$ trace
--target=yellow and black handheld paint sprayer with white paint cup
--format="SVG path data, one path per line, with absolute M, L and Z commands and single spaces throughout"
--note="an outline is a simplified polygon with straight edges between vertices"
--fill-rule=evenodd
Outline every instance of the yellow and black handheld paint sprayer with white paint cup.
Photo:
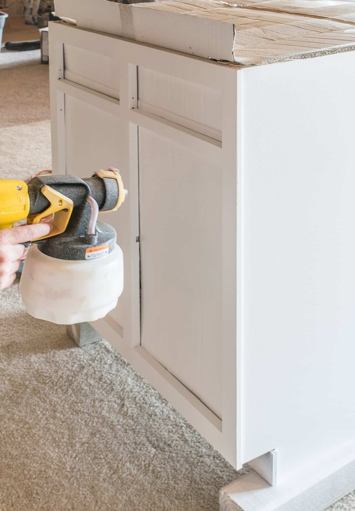
M 0 179 L 0 228 L 53 215 L 47 236 L 31 240 L 20 293 L 27 312 L 59 324 L 95 321 L 123 291 L 123 253 L 116 231 L 98 213 L 116 211 L 127 191 L 116 169 L 92 177 L 38 176 L 28 184 Z

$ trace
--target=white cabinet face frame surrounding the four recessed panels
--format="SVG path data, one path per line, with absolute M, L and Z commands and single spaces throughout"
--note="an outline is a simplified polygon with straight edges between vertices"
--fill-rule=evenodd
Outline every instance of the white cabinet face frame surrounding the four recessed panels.
M 119 66 L 119 100 L 64 78 L 64 44 L 111 57 Z M 80 29 L 49 24 L 53 172 L 66 173 L 65 96 L 116 115 L 122 125 L 121 174 L 128 200 L 124 215 L 124 325 L 110 316 L 93 323 L 117 351 L 235 468 L 242 466 L 241 355 L 241 96 L 243 71 L 197 57 Z M 212 87 L 222 94 L 222 142 L 137 109 L 137 66 Z M 83 119 L 85 122 L 85 119 Z M 138 126 L 207 156 L 222 179 L 222 420 L 140 345 Z M 104 219 L 105 220 L 105 219 Z

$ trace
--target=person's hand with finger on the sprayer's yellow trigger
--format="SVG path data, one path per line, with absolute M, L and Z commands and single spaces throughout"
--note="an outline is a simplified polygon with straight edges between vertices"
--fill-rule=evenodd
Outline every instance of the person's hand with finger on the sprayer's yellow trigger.
M 0 290 L 13 283 L 21 260 L 26 255 L 27 249 L 19 243 L 46 236 L 51 229 L 51 224 L 39 223 L 0 230 Z

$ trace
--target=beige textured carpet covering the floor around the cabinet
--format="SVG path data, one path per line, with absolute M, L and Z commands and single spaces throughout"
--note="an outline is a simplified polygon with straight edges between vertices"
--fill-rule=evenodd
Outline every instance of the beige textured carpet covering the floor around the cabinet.
M 1 178 L 50 168 L 47 73 L 0 68 Z M 17 284 L 0 292 L 0 403 L 0 511 L 217 511 L 242 473 L 108 342 L 80 349 L 26 314 Z

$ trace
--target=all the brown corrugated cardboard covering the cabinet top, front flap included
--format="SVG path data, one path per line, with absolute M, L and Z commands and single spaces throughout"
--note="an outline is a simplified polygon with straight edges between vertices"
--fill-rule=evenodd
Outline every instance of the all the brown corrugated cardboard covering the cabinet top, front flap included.
M 355 49 L 353 0 L 56 0 L 79 27 L 199 57 L 256 65 Z

